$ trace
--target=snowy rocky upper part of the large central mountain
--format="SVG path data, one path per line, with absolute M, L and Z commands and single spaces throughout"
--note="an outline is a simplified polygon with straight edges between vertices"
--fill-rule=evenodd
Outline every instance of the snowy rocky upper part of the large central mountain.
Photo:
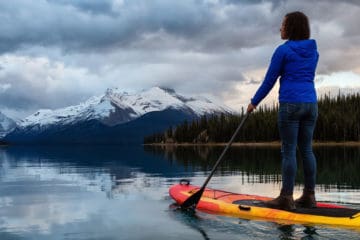
M 21 127 L 51 124 L 74 124 L 97 119 L 107 125 L 134 120 L 146 113 L 168 108 L 187 109 L 196 115 L 214 112 L 232 112 L 206 98 L 185 97 L 173 89 L 152 87 L 130 94 L 119 88 L 109 88 L 105 94 L 95 96 L 75 106 L 50 110 L 42 109 L 20 122 Z

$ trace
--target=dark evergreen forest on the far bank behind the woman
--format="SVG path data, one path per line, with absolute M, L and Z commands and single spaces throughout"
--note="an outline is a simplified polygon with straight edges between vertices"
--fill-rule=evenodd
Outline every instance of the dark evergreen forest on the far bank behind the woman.
M 236 137 L 236 142 L 278 141 L 278 106 L 259 106 L 246 121 Z M 206 143 L 227 142 L 235 132 L 242 115 L 203 116 L 192 122 L 170 127 L 164 133 L 144 139 L 145 143 Z M 319 99 L 319 118 L 314 140 L 316 141 L 360 141 L 360 94 L 342 95 Z

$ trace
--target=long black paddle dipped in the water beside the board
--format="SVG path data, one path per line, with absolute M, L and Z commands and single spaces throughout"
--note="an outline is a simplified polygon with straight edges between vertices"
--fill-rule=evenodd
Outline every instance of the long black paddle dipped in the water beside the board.
M 231 144 L 234 142 L 236 135 L 238 134 L 238 132 L 240 131 L 241 127 L 244 125 L 245 120 L 249 117 L 250 112 L 247 112 L 245 114 L 245 116 L 243 117 L 243 119 L 241 120 L 238 128 L 236 129 L 235 133 L 233 134 L 233 136 L 231 137 L 230 141 L 228 142 L 228 144 L 226 145 L 225 149 L 223 150 L 223 152 L 221 153 L 219 159 L 216 161 L 213 169 L 211 170 L 210 175 L 207 177 L 207 179 L 205 180 L 204 184 L 202 185 L 202 187 L 200 188 L 200 190 L 198 190 L 196 193 L 194 193 L 193 195 L 191 195 L 188 199 L 186 199 L 182 204 L 181 204 L 181 208 L 182 209 L 188 209 L 188 208 L 192 208 L 195 209 L 197 204 L 200 201 L 200 198 L 202 196 L 202 194 L 204 193 L 205 187 L 208 184 L 208 182 L 210 181 L 210 178 L 214 175 L 217 167 L 219 166 L 221 160 L 223 159 L 226 151 L 230 148 Z

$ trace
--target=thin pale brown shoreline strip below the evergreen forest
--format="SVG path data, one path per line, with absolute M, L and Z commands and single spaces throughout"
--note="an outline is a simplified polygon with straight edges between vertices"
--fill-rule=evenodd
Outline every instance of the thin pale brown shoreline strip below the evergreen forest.
M 163 146 L 163 147 L 193 147 L 193 146 L 226 146 L 228 143 L 146 143 L 144 146 Z M 274 142 L 235 142 L 233 147 L 280 147 L 280 141 Z M 347 141 L 347 142 L 313 142 L 313 147 L 360 147 L 360 141 Z

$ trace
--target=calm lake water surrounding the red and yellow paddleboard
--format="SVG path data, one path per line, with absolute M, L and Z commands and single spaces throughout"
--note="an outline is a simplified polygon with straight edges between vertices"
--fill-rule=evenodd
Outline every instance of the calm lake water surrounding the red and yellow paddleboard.
M 168 188 L 183 178 L 202 185 L 222 150 L 1 147 L 0 239 L 360 239 L 360 229 L 179 211 Z M 315 154 L 317 199 L 360 208 L 360 148 Z M 280 162 L 278 147 L 233 147 L 208 187 L 275 197 Z M 302 188 L 298 174 L 295 197 Z

